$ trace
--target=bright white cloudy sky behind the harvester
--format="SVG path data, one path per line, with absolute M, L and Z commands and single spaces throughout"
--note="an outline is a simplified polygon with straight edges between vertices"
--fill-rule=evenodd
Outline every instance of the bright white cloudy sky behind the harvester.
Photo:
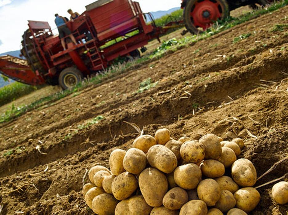
M 54 14 L 70 17 L 71 8 L 79 14 L 95 0 L 0 0 L 0 53 L 20 49 L 21 38 L 28 29 L 27 20 L 47 21 L 55 29 Z M 180 7 L 181 0 L 137 0 L 143 12 Z M 53 33 L 58 33 L 57 29 Z

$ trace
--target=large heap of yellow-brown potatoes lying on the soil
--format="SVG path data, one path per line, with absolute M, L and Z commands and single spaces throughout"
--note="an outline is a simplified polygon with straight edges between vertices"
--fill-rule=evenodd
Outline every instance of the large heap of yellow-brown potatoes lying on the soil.
M 260 194 L 252 187 L 254 165 L 237 159 L 243 148 L 242 139 L 174 140 L 160 129 L 154 137 L 139 136 L 128 151 L 112 151 L 110 170 L 93 166 L 82 193 L 99 215 L 247 214 Z

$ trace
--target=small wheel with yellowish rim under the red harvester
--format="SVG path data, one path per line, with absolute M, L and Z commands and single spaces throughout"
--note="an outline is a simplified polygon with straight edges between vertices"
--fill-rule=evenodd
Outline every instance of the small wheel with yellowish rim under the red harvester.
M 63 90 L 73 88 L 82 81 L 82 73 L 73 67 L 63 69 L 60 73 L 58 81 Z

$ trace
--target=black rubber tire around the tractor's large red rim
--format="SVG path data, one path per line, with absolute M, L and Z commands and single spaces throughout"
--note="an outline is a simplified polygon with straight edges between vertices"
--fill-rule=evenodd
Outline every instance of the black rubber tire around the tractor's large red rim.
M 183 20 L 184 20 L 184 24 L 186 29 L 192 33 L 192 34 L 198 34 L 198 33 L 202 33 L 202 30 L 199 30 L 198 28 L 196 28 L 194 26 L 194 24 L 191 21 L 191 17 L 190 17 L 190 12 L 191 9 L 193 7 L 193 5 L 195 4 L 195 2 L 197 2 L 198 0 L 188 0 L 186 3 L 186 6 L 184 7 L 184 11 L 183 11 Z M 223 11 L 223 15 L 222 15 L 222 19 L 226 18 L 229 16 L 230 11 L 229 11 L 229 5 L 227 3 L 226 0 L 217 0 L 222 4 L 222 7 L 224 9 Z

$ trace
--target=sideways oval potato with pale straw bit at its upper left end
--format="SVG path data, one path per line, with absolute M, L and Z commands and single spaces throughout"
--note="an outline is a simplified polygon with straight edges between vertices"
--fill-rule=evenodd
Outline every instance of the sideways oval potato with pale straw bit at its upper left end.
M 206 160 L 200 165 L 202 174 L 208 178 L 221 177 L 225 173 L 224 165 L 216 160 Z

